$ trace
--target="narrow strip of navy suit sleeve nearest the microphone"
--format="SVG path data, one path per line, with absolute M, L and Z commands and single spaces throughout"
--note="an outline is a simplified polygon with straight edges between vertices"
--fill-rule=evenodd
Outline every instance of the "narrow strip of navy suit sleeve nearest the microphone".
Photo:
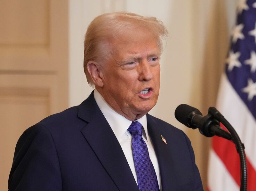
M 188 149 L 189 149 L 189 152 L 190 152 L 190 157 L 191 157 L 191 161 L 192 161 L 193 169 L 194 169 L 194 176 L 193 176 L 194 188 L 193 188 L 193 191 L 204 191 L 203 185 L 202 185 L 202 180 L 201 180 L 201 177 L 200 177 L 200 173 L 199 173 L 199 170 L 196 166 L 195 154 L 194 154 L 191 142 L 190 142 L 188 136 L 183 131 L 182 131 L 182 133 L 184 134 L 185 139 L 187 141 L 187 145 L 188 145 Z

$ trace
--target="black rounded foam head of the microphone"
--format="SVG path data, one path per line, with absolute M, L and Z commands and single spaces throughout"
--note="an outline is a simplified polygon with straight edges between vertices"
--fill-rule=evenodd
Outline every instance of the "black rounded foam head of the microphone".
M 183 125 L 188 126 L 188 115 L 192 112 L 192 111 L 199 111 L 198 109 L 196 109 L 195 107 L 191 107 L 187 104 L 180 104 L 174 112 L 175 118 L 180 121 Z M 199 111 L 200 112 L 200 111 Z

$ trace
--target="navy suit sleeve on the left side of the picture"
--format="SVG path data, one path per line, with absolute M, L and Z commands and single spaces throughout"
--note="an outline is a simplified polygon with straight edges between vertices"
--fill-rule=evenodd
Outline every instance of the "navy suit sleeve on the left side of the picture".
M 28 128 L 18 140 L 8 181 L 9 191 L 62 189 L 59 158 L 52 135 L 43 125 Z

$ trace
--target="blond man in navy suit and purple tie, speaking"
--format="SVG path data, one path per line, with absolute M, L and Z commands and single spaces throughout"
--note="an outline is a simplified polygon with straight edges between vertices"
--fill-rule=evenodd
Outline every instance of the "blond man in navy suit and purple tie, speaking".
M 9 190 L 203 190 L 188 137 L 148 114 L 166 34 L 154 17 L 95 18 L 84 41 L 84 71 L 95 90 L 22 134 Z

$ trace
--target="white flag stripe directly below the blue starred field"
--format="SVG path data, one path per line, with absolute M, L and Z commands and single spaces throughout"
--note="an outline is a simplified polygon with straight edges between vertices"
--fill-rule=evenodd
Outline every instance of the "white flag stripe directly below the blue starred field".
M 220 113 L 236 130 L 242 143 L 245 145 L 246 157 L 251 161 L 254 169 L 256 169 L 256 121 L 236 94 L 225 74 L 221 77 L 217 106 Z

